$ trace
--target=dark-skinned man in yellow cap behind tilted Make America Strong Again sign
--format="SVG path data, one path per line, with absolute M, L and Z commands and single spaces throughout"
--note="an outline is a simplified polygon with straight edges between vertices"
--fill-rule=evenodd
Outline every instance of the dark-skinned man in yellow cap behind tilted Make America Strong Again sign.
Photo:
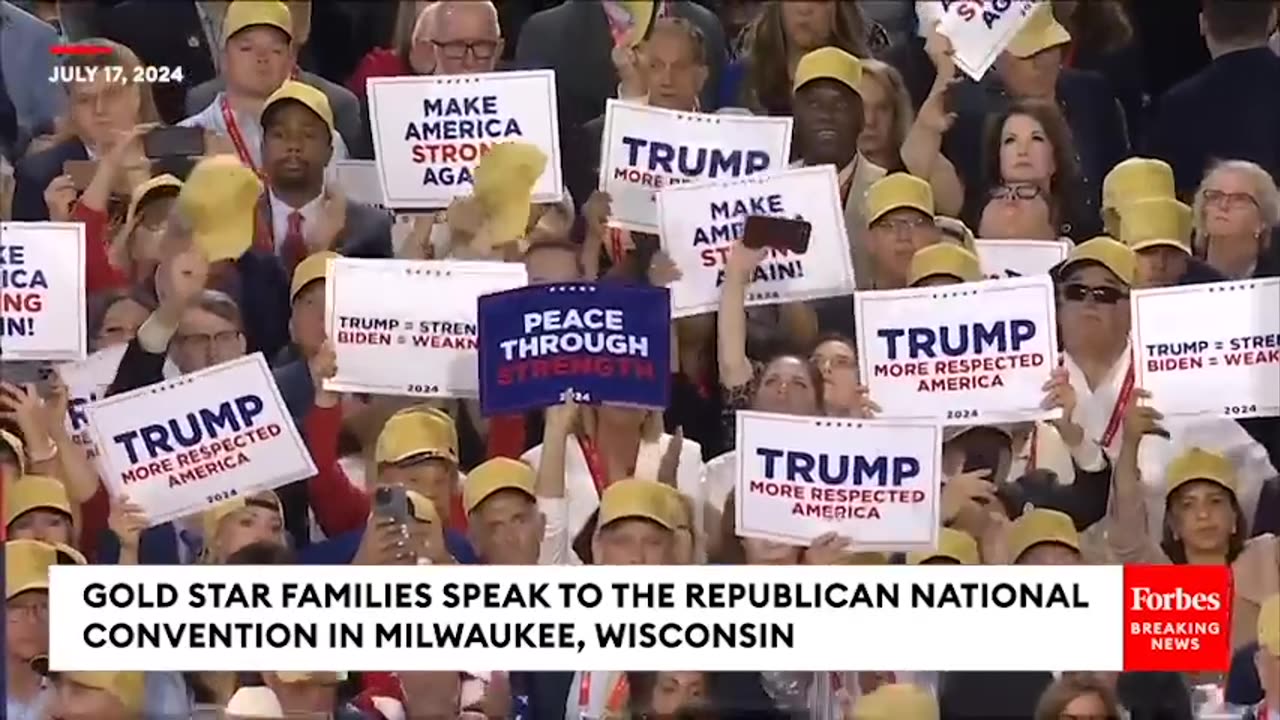
M 884 177 L 884 168 L 858 152 L 863 133 L 863 64 L 833 46 L 804 55 L 791 85 L 795 143 L 804 165 L 835 165 L 845 205 L 849 251 L 859 286 L 872 279 L 865 247 L 867 190 Z

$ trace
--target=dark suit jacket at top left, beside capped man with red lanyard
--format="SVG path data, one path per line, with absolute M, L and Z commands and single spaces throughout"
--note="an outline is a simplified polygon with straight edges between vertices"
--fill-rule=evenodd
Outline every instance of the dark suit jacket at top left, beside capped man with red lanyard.
M 177 123 L 187 117 L 187 92 L 215 76 L 205 28 L 196 4 L 174 0 L 128 0 L 101 13 L 101 33 L 129 46 L 145 65 L 182 68 L 182 82 L 156 85 L 160 117 Z

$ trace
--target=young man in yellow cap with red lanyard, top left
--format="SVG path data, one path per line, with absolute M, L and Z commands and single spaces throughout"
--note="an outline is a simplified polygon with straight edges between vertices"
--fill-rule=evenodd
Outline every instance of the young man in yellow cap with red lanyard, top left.
M 266 99 L 293 70 L 293 20 L 279 0 L 234 0 L 223 17 L 221 77 L 227 88 L 182 126 L 201 127 L 225 141 L 244 165 L 262 173 L 262 126 Z M 347 158 L 347 145 L 333 136 L 333 154 Z

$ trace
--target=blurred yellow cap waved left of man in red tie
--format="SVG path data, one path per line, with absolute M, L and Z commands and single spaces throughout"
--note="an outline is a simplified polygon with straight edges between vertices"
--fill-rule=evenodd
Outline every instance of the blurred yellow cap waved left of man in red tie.
M 248 250 L 261 195 L 262 182 L 236 155 L 205 158 L 191 169 L 178 192 L 178 208 L 210 263 L 233 260 Z

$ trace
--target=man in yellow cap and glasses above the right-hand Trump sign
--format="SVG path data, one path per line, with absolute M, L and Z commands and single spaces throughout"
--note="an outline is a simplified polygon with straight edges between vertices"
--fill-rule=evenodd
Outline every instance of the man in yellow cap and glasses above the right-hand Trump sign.
M 893 173 L 867 191 L 867 250 L 870 287 L 901 290 L 911 258 L 942 240 L 933 220 L 933 188 L 908 173 Z M 861 282 L 861 281 L 860 281 Z

